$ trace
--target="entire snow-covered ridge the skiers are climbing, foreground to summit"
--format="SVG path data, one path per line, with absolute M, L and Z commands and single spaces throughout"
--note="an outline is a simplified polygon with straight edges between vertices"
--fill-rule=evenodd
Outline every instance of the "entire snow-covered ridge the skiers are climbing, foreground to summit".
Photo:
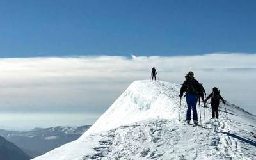
M 255 159 L 256 116 L 227 103 L 228 120 L 201 108 L 202 126 L 179 121 L 179 84 L 134 81 L 78 140 L 35 160 L 69 159 Z M 199 114 L 199 106 L 198 106 Z M 199 117 L 199 116 L 198 116 Z

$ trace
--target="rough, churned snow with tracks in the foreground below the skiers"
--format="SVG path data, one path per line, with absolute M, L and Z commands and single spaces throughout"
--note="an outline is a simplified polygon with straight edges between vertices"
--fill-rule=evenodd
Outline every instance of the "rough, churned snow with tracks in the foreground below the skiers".
M 195 127 L 177 120 L 149 120 L 101 133 L 94 152 L 82 159 L 255 158 L 255 146 L 248 152 L 252 145 L 241 147 L 244 141 L 226 132 L 231 131 L 221 120 L 208 120 Z

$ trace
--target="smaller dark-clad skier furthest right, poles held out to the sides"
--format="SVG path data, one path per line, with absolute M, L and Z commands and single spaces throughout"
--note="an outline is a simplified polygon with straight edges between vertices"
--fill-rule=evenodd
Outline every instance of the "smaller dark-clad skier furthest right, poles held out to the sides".
M 221 97 L 220 95 L 220 90 L 218 90 L 217 87 L 212 88 L 212 93 L 208 95 L 208 97 L 205 99 L 205 102 L 207 102 L 208 99 L 211 98 L 211 106 L 212 106 L 212 119 L 215 117 L 218 119 L 219 118 L 219 104 L 220 104 L 220 99 L 225 105 L 225 100 Z

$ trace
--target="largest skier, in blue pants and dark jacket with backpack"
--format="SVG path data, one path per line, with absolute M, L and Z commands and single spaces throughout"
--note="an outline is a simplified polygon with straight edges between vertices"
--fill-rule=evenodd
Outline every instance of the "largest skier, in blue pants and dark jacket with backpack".
M 193 72 L 188 72 L 185 76 L 186 80 L 182 84 L 180 88 L 180 99 L 183 96 L 183 93 L 186 92 L 186 102 L 188 105 L 187 114 L 186 114 L 186 122 L 190 124 L 191 120 L 191 109 L 193 110 L 193 121 L 195 125 L 198 125 L 198 116 L 196 111 L 196 104 L 198 99 L 201 97 L 204 102 L 204 93 L 201 90 L 200 83 L 194 78 Z M 204 103 L 205 104 L 205 103 Z

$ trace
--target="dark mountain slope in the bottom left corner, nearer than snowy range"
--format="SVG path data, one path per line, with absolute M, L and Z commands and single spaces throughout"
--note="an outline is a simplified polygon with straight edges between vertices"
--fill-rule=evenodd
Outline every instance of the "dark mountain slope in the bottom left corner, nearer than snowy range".
M 28 160 L 28 154 L 23 152 L 15 144 L 0 136 L 0 159 L 2 160 Z

